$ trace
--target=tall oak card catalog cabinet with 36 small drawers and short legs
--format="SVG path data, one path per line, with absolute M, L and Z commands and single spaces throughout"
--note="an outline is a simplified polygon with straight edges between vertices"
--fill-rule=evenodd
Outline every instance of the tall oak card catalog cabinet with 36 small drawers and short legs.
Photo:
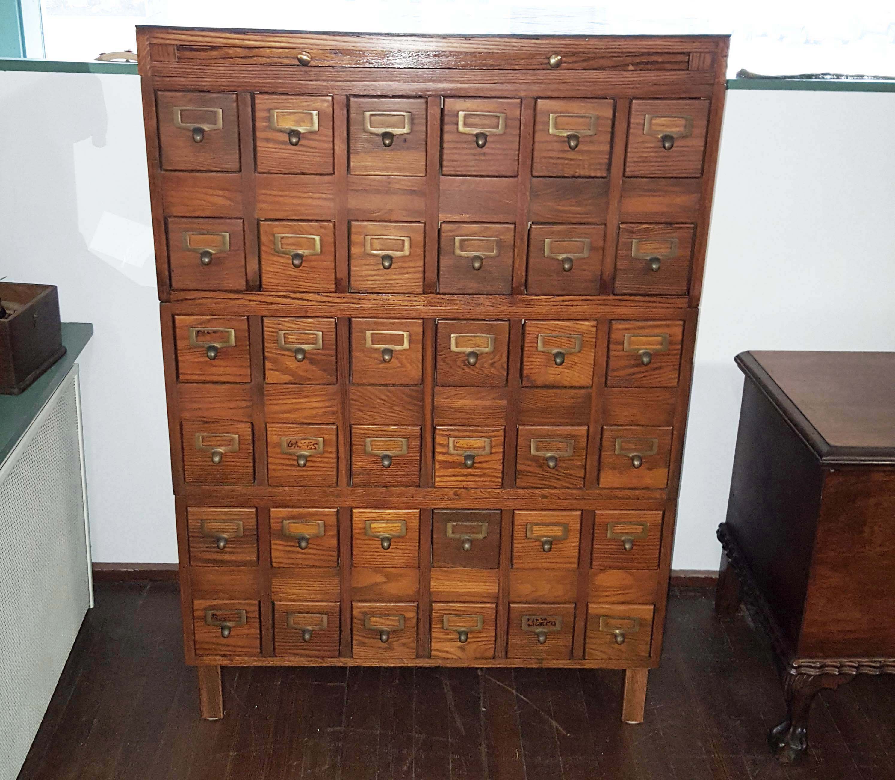
M 659 663 L 728 39 L 139 30 L 186 660 Z

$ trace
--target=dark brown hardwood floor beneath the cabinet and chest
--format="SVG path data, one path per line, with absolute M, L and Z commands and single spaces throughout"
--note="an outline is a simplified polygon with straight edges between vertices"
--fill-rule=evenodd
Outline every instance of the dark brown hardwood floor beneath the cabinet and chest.
M 166 583 L 98 583 L 20 780 L 702 780 L 895 778 L 895 676 L 814 703 L 805 763 L 765 745 L 783 715 L 768 649 L 712 592 L 676 591 L 646 721 L 619 720 L 622 673 L 233 669 L 200 721 Z

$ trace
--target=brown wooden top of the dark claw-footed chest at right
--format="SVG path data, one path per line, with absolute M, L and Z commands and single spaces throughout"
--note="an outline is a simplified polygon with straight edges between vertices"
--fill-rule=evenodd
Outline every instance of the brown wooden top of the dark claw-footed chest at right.
M 895 352 L 744 352 L 737 365 L 824 463 L 895 464 Z

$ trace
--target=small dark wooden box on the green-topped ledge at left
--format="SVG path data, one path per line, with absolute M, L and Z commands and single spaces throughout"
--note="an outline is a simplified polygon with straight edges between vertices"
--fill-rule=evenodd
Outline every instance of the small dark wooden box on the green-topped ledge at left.
M 65 354 L 53 285 L 0 282 L 0 394 L 14 396 Z

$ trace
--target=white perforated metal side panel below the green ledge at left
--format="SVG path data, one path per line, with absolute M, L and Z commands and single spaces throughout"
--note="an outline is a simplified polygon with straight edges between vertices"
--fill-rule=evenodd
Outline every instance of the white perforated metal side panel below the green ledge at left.
M 15 780 L 90 606 L 77 365 L 0 466 L 0 780 Z

